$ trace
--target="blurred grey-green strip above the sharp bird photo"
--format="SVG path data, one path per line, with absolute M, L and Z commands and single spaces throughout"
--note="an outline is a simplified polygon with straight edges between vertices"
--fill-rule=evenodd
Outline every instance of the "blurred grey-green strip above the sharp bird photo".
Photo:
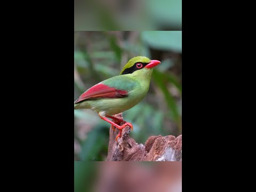
M 75 31 L 181 30 L 181 0 L 75 0 Z

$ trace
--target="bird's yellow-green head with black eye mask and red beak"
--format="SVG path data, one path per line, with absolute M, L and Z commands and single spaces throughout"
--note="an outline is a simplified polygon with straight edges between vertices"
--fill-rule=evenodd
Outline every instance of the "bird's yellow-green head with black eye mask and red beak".
M 157 66 L 159 63 L 161 62 L 158 60 L 150 60 L 147 57 L 134 57 L 126 63 L 120 75 L 132 74 L 133 76 L 151 77 L 153 67 Z

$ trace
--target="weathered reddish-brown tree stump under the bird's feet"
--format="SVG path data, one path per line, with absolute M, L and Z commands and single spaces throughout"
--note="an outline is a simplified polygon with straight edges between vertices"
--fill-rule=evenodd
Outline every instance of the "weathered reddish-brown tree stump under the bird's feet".
M 123 118 L 122 113 L 114 117 Z M 114 131 L 110 126 L 107 161 L 181 161 L 182 135 L 151 136 L 143 145 L 130 138 L 130 132 L 129 126 L 124 127 L 116 142 L 118 129 Z

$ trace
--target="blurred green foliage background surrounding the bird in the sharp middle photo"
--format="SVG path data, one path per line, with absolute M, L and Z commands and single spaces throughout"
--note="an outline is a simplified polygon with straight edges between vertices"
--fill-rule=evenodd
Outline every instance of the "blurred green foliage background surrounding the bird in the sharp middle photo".
M 160 60 L 149 92 L 124 111 L 131 137 L 145 143 L 151 135 L 181 134 L 181 31 L 75 31 L 74 101 L 91 86 L 116 75 L 132 57 Z M 74 110 L 75 161 L 105 161 L 110 125 L 90 109 Z

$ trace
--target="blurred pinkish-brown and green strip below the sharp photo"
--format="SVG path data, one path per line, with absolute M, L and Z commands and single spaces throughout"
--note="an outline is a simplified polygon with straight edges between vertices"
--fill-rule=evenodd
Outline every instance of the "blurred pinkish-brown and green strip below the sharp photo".
M 181 192 L 181 162 L 75 162 L 75 192 Z

